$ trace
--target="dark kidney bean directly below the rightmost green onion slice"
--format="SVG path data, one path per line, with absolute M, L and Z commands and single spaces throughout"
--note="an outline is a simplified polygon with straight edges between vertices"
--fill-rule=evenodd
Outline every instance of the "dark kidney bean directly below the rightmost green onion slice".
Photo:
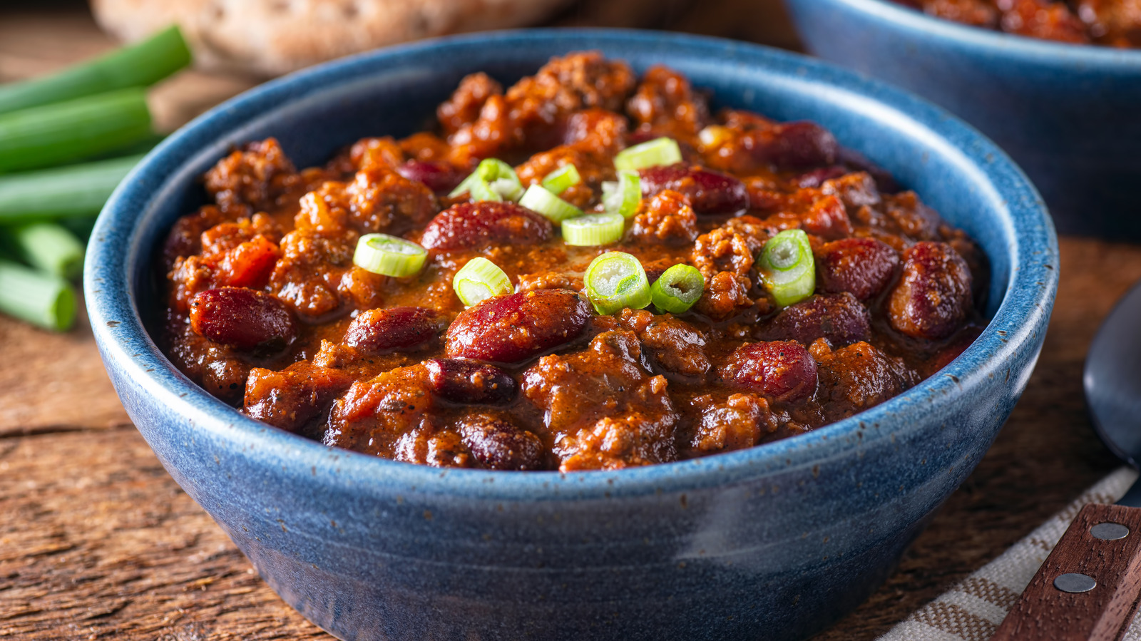
M 816 294 L 784 308 L 761 331 L 766 340 L 795 340 L 811 344 L 827 339 L 834 346 L 867 340 L 872 335 L 871 315 L 852 294 Z

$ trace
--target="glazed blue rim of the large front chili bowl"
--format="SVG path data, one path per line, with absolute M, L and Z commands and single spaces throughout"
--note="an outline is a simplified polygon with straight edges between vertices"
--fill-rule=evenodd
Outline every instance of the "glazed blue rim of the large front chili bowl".
M 159 350 L 143 325 L 135 300 L 132 269 L 138 260 L 149 263 L 154 249 L 140 246 L 135 221 L 152 209 L 167 180 L 204 145 L 248 123 L 260 109 L 282 100 L 300 99 L 306 95 L 300 88 L 309 83 L 319 88 L 358 78 L 347 75 L 354 70 L 359 74 L 385 68 L 386 62 L 400 64 L 404 59 L 439 56 L 442 51 L 464 46 L 497 46 L 509 50 L 512 43 L 551 40 L 565 43 L 567 50 L 600 47 L 600 42 L 647 49 L 667 44 L 711 59 L 731 51 L 775 76 L 795 76 L 800 81 L 810 78 L 814 79 L 810 84 L 833 86 L 851 92 L 853 98 L 871 100 L 893 115 L 909 119 L 921 132 L 934 136 L 947 154 L 968 163 L 981 181 L 979 187 L 988 189 L 1000 208 L 1003 237 L 1011 243 L 1011 263 L 1003 300 L 994 317 L 974 343 L 939 375 L 849 419 L 791 438 L 703 459 L 573 473 L 439 469 L 331 448 L 240 414 L 191 382 Z M 1037 332 L 1044 330 L 1049 319 L 1058 285 L 1057 266 L 1053 225 L 1030 181 L 994 143 L 925 100 L 827 63 L 752 43 L 640 30 L 531 29 L 446 36 L 349 56 L 269 81 L 215 106 L 163 140 L 115 189 L 91 234 L 83 289 L 92 332 L 108 370 L 119 370 L 119 375 L 138 384 L 149 396 L 148 405 L 165 407 L 169 414 L 162 420 L 177 416 L 193 429 L 229 441 L 232 451 L 240 449 L 243 456 L 261 457 L 261 464 L 273 464 L 286 476 L 319 479 L 356 493 L 412 488 L 428 494 L 529 502 L 722 486 L 772 471 L 811 466 L 843 456 L 851 447 L 905 436 L 914 425 L 898 416 L 889 420 L 890 416 L 906 414 L 908 407 L 913 412 L 928 411 L 972 387 L 986 384 L 988 372 L 993 374 L 997 364 L 1041 340 Z M 1015 299 L 1025 301 L 1015 306 Z M 1000 335 L 998 330 L 1005 333 Z M 145 423 L 140 431 L 147 436 Z

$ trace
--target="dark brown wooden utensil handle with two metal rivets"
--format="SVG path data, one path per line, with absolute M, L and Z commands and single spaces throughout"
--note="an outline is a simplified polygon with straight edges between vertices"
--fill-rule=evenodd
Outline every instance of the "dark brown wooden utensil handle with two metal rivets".
M 1112 526 L 1091 532 L 1100 524 L 1119 524 L 1128 534 L 1099 538 L 1094 533 L 1120 534 Z M 1066 592 L 1054 584 L 1065 574 L 1085 575 L 1097 585 L 1087 592 Z M 1084 581 L 1067 578 L 1070 589 L 1081 587 Z M 1065 579 L 1060 584 L 1067 585 Z M 1118 641 L 1133 620 L 1139 597 L 1141 508 L 1091 503 L 1074 518 L 993 641 Z

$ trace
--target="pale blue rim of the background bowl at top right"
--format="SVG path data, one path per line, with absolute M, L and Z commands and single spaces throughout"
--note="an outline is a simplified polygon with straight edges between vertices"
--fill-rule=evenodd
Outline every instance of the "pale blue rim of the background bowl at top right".
M 808 0 L 793 0 L 803 2 Z M 1097 65 L 1115 72 L 1141 73 L 1141 49 L 1058 42 L 1029 35 L 1018 35 L 990 29 L 965 25 L 930 16 L 892 0 L 830 0 L 868 14 L 906 31 L 928 38 L 960 41 L 995 57 L 1018 57 L 1049 67 Z

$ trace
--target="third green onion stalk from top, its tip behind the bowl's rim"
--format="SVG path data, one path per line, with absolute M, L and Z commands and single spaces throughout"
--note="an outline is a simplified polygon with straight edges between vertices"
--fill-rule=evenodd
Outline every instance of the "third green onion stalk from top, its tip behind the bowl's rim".
M 141 155 L 0 177 L 0 222 L 95 217 Z

